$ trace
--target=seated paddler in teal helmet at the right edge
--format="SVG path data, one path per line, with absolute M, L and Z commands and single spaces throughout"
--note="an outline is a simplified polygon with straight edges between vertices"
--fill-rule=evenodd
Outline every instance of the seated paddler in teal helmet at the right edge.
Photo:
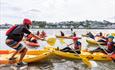
M 115 53 L 115 42 L 113 41 L 113 39 L 114 39 L 114 37 L 113 36 L 108 36 L 108 38 L 107 38 L 107 50 L 106 49 L 104 49 L 104 50 L 106 50 L 108 53 Z M 95 50 L 93 50 L 93 51 L 91 51 L 91 52 L 104 52 L 104 53 L 106 53 L 105 51 L 104 51 L 101 47 L 98 47 L 97 49 L 95 49 Z

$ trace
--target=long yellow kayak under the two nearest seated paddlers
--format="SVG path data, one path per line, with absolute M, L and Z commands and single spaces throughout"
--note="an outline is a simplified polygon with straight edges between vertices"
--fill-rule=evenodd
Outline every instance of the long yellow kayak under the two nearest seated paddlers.
M 63 58 L 69 58 L 69 59 L 81 59 L 77 54 L 75 53 L 70 53 L 70 52 L 62 52 L 59 50 L 55 50 L 54 54 Z M 81 56 L 83 56 L 84 58 L 88 58 L 91 60 L 99 60 L 99 61 L 111 61 L 112 58 L 115 59 L 115 54 L 108 56 L 104 53 L 101 52 L 95 52 L 93 54 L 91 54 L 90 52 L 81 52 L 80 54 Z M 112 58 L 111 58 L 112 57 Z

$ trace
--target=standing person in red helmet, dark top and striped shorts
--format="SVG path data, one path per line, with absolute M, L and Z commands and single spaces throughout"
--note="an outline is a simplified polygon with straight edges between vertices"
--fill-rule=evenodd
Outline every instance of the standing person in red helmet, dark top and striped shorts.
M 23 62 L 23 58 L 26 55 L 27 48 L 24 47 L 20 42 L 23 39 L 24 34 L 28 34 L 36 39 L 40 39 L 38 36 L 35 36 L 29 31 L 32 22 L 30 19 L 25 18 L 23 20 L 23 24 L 11 27 L 7 32 L 6 44 L 16 50 L 13 55 L 9 58 L 9 60 L 15 60 L 15 55 L 20 53 L 20 59 L 17 63 L 17 66 L 23 66 L 25 63 Z

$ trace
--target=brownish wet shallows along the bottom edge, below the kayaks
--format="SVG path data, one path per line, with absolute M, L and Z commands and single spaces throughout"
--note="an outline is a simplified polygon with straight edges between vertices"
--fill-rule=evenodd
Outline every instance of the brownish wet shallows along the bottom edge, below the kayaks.
M 11 68 L 8 65 L 0 65 L 0 70 L 115 70 L 115 63 L 97 62 L 97 67 L 88 68 L 81 60 L 51 59 L 50 61 L 29 63 L 25 69 Z

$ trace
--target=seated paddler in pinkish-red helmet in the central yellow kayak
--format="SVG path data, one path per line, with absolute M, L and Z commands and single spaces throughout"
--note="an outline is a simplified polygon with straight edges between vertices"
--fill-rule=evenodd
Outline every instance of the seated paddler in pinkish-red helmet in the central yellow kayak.
M 74 45 L 74 50 L 80 54 L 81 52 L 81 42 L 78 41 L 78 39 L 81 39 L 81 38 L 78 38 L 78 37 L 72 37 L 72 40 L 73 40 L 73 43 L 67 45 L 67 47 L 61 49 L 60 51 L 63 51 L 63 52 L 71 52 L 71 53 L 74 53 L 74 51 L 69 47 L 70 45 Z

